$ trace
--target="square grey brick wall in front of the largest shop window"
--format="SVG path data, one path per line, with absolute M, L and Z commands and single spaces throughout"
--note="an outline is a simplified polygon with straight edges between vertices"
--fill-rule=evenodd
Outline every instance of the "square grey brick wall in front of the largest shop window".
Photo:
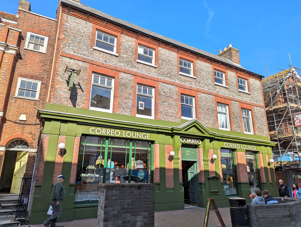
M 97 226 L 154 226 L 154 184 L 98 184 Z

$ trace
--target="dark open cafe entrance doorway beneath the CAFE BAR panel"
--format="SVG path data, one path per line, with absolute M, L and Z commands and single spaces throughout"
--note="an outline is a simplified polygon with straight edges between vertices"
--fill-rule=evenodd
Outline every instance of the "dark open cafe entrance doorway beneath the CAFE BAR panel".
M 197 162 L 182 161 L 182 179 L 184 203 L 191 206 L 199 206 Z

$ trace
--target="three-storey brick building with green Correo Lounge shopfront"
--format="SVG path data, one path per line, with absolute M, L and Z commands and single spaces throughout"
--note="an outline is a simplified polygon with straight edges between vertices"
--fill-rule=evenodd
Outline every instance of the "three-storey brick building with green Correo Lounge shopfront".
M 277 190 L 262 76 L 237 49 L 210 54 L 79 0 L 61 0 L 56 19 L 32 224 L 47 217 L 58 174 L 67 177 L 59 221 L 96 217 L 98 183 L 115 176 L 154 183 L 156 211 Z

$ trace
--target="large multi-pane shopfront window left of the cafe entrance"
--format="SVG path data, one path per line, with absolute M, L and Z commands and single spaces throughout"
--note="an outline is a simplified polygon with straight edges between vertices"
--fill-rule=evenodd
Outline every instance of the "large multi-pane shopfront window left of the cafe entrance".
M 150 183 L 152 144 L 143 140 L 82 136 L 75 202 L 98 200 L 98 183 Z

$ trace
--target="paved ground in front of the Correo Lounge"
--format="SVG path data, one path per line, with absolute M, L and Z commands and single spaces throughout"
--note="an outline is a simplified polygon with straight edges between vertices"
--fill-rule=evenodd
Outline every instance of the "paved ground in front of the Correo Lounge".
M 184 210 L 172 210 L 172 211 L 161 211 L 155 212 L 155 227 L 175 227 L 175 226 L 185 226 L 185 227 L 195 227 L 203 226 L 205 217 L 205 208 L 201 207 L 185 207 Z M 226 226 L 232 226 L 230 209 L 219 208 L 219 213 Z M 56 223 L 57 226 L 64 227 L 92 227 L 97 226 L 97 218 L 93 219 L 83 219 L 74 220 L 72 222 L 61 222 Z M 44 225 L 22 225 L 23 227 L 44 227 Z M 210 210 L 208 227 L 221 226 L 216 213 Z

